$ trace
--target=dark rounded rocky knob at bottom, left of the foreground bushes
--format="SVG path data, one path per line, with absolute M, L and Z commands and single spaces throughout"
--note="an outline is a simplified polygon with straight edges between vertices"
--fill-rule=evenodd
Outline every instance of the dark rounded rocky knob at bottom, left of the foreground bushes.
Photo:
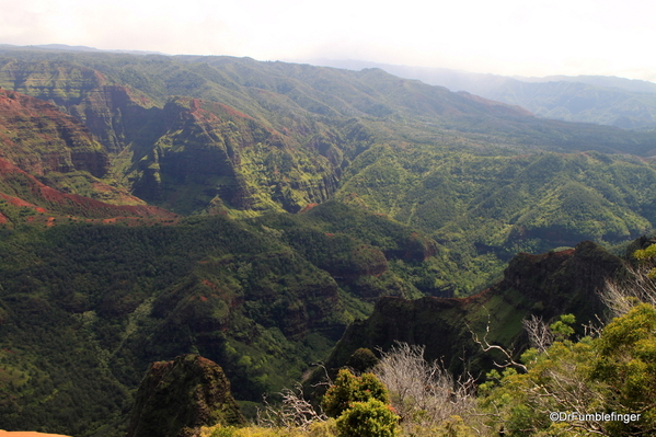
M 152 364 L 139 386 L 126 437 L 176 437 L 200 426 L 244 423 L 221 367 L 183 355 Z

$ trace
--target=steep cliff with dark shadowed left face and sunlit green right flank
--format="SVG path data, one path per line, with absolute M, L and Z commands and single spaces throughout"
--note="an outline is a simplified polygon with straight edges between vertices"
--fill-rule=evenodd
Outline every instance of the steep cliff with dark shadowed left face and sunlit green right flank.
M 163 120 L 165 131 L 135 151 L 128 174 L 147 200 L 183 214 L 297 211 L 336 189 L 327 158 L 225 104 L 172 97 Z

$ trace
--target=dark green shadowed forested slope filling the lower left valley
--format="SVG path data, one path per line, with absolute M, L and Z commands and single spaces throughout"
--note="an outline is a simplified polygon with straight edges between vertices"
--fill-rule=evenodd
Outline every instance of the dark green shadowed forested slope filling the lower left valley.
M 182 353 L 261 401 L 378 296 L 421 296 L 412 273 L 435 243 L 327 203 L 241 222 L 24 227 L 0 244 L 3 426 L 87 435 L 114 434 L 148 365 Z

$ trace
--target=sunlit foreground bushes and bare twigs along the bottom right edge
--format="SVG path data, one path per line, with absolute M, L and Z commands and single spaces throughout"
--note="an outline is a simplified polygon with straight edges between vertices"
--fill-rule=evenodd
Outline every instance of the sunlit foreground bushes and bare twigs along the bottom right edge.
M 518 361 L 510 357 L 500 361 L 504 369 L 492 370 L 477 393 L 471 390 L 471 380 L 453 379 L 439 364 L 426 363 L 421 348 L 402 345 L 383 357 L 390 361 L 375 366 L 373 373 L 356 378 L 347 370 L 339 372 L 324 403 L 334 409 L 349 401 L 336 422 L 318 417 L 302 427 L 238 429 L 219 425 L 204 432 L 215 437 L 653 434 L 656 308 L 637 304 L 598 326 L 594 334 L 576 340 L 574 323 L 569 314 L 551 326 L 531 330 L 536 347 Z M 385 371 L 390 365 L 405 373 L 392 369 L 390 375 Z M 387 390 L 381 380 L 393 389 Z M 371 390 L 362 391 L 365 387 Z M 391 405 L 385 407 L 385 403 Z M 300 410 L 297 414 L 302 415 Z M 349 425 L 345 427 L 345 423 Z

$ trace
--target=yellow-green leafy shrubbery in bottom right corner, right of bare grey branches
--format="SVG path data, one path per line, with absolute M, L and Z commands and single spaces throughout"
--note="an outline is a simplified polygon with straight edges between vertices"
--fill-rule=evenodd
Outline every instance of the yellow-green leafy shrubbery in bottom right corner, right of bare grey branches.
M 656 308 L 640 304 L 578 342 L 564 340 L 568 320 L 551 325 L 561 341 L 521 356 L 525 373 L 487 375 L 480 392 L 490 425 L 509 436 L 654 435 Z

